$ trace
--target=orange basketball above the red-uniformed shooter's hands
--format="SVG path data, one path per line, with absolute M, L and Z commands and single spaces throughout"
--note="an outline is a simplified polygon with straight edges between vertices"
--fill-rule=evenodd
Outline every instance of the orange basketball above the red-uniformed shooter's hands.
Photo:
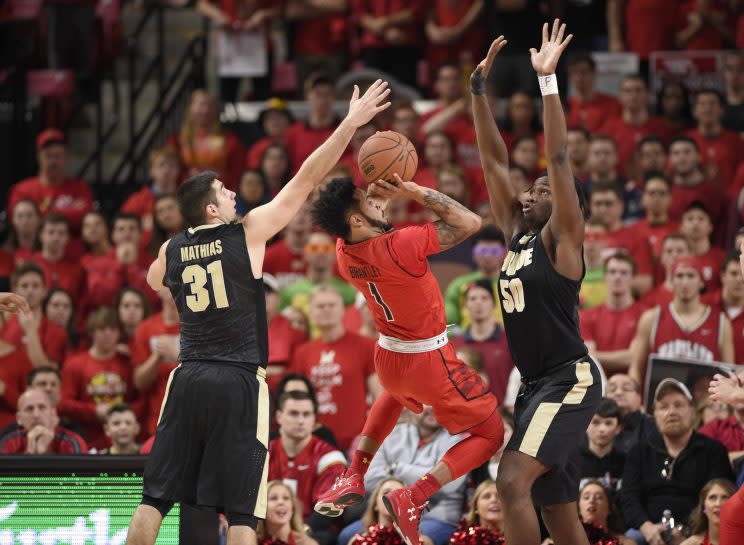
M 393 180 L 397 174 L 404 181 L 413 178 L 418 166 L 416 148 L 395 131 L 376 132 L 362 144 L 357 157 L 359 171 L 367 183 Z

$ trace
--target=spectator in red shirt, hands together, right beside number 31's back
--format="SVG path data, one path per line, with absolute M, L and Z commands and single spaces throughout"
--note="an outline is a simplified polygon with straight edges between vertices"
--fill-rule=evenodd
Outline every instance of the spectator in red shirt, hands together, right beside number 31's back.
M 181 353 L 178 309 L 168 288 L 158 292 L 163 310 L 142 321 L 131 342 L 133 384 L 144 403 L 143 426 L 155 433 L 168 378 L 178 366 Z

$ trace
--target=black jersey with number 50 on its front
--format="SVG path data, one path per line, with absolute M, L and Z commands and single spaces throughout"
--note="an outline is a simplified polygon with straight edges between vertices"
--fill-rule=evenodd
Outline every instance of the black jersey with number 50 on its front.
M 512 238 L 499 299 L 509 350 L 523 377 L 538 377 L 587 355 L 579 335 L 580 289 L 581 281 L 555 270 L 540 233 Z

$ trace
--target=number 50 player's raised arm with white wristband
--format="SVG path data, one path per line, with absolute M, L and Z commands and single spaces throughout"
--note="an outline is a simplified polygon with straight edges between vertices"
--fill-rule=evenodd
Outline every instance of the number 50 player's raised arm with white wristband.
M 556 19 L 548 35 L 548 23 L 543 25 L 540 51 L 530 49 L 532 67 L 540 80 L 543 95 L 543 125 L 545 130 L 545 158 L 548 164 L 548 181 L 553 194 L 553 213 L 550 233 L 557 242 L 568 241 L 580 249 L 584 242 L 584 214 L 576 194 L 571 164 L 568 160 L 566 116 L 558 95 L 555 68 L 558 59 L 568 46 L 573 34 L 565 39 L 566 25 Z

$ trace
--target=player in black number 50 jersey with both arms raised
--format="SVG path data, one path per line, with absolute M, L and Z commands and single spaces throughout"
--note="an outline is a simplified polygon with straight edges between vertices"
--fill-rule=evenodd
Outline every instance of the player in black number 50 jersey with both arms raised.
M 473 117 L 491 208 L 509 243 L 499 299 L 512 359 L 522 374 L 514 435 L 496 486 L 507 543 L 538 545 L 540 507 L 555 545 L 588 545 L 579 523 L 577 445 L 601 398 L 597 365 L 579 335 L 586 206 L 566 153 L 566 119 L 555 84 L 558 59 L 571 40 L 558 20 L 532 66 L 543 94 L 547 175 L 528 188 L 509 182 L 508 153 L 485 96 L 485 79 L 506 40 L 497 38 L 471 76 Z M 530 493 L 532 497 L 530 497 Z

